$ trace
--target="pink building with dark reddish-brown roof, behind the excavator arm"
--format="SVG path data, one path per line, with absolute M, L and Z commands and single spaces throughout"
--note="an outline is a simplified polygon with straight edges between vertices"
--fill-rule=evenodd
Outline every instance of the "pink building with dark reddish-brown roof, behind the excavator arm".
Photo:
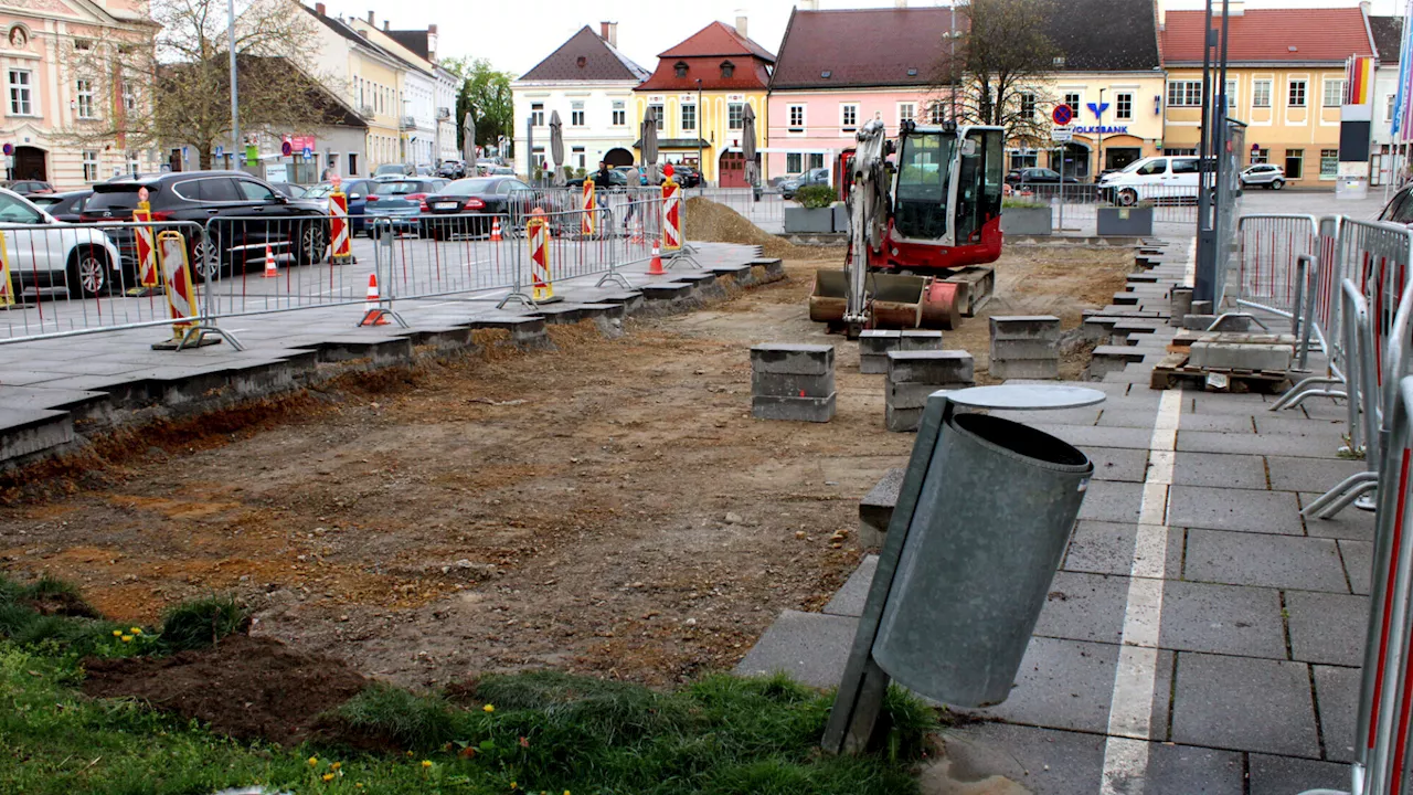
M 770 78 L 766 177 L 832 168 L 873 117 L 890 132 L 940 123 L 947 96 L 933 83 L 952 18 L 947 7 L 796 8 Z

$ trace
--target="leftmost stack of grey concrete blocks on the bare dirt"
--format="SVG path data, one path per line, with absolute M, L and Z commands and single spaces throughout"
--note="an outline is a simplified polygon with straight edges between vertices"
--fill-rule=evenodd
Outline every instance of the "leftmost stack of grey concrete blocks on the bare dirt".
M 834 419 L 834 345 L 750 348 L 750 414 L 759 420 Z

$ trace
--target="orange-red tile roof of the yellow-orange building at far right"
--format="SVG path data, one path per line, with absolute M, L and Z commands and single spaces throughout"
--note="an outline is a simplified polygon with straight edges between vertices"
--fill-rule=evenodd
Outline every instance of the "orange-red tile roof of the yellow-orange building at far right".
M 1212 27 L 1221 17 L 1212 18 Z M 1364 13 L 1352 8 L 1252 8 L 1231 18 L 1228 61 L 1232 64 L 1344 62 L 1373 55 Z M 1294 48 L 1294 50 L 1291 50 Z M 1202 62 L 1202 11 L 1167 11 L 1163 61 Z

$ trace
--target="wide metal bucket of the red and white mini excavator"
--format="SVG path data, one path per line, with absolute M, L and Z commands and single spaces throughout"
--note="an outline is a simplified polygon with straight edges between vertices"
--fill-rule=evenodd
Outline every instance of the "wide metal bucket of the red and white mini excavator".
M 842 270 L 820 270 L 810 296 L 810 320 L 839 328 L 844 324 L 848 276 Z M 870 328 L 941 328 L 961 324 L 958 298 L 966 296 L 957 284 L 924 276 L 869 273 L 868 289 Z

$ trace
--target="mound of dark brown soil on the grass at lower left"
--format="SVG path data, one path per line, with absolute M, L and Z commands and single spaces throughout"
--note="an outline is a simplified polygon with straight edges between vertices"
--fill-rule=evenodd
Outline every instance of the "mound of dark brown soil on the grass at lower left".
M 239 740 L 285 745 L 307 738 L 319 713 L 367 686 L 343 661 L 249 635 L 230 635 L 215 648 L 168 658 L 90 658 L 83 666 L 89 696 L 143 699 Z

